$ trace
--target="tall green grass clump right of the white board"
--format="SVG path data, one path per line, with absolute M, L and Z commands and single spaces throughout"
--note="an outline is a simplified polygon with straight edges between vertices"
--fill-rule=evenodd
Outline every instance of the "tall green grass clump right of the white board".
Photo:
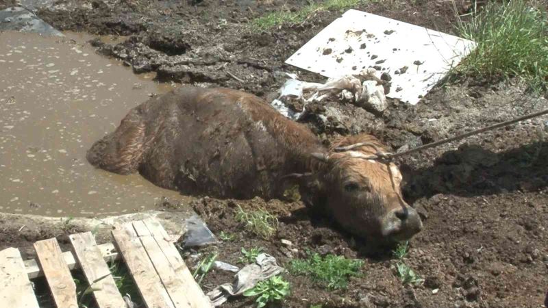
M 491 1 L 472 16 L 458 23 L 458 32 L 477 47 L 453 70 L 453 77 L 519 77 L 534 90 L 547 90 L 548 22 L 543 10 L 525 0 Z

